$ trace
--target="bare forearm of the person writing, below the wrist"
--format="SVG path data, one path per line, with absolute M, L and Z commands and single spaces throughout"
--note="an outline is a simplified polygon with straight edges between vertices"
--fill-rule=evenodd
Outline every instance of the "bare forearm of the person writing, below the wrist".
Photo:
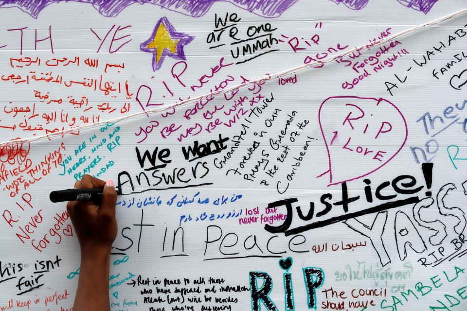
M 108 297 L 110 249 L 81 250 L 75 311 L 109 311 Z

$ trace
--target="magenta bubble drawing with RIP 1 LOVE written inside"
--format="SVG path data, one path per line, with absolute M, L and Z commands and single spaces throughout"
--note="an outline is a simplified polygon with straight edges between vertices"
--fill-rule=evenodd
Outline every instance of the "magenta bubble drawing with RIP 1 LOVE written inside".
M 369 175 L 391 161 L 405 145 L 407 122 L 395 104 L 379 98 L 333 96 L 318 112 L 329 160 L 329 184 Z

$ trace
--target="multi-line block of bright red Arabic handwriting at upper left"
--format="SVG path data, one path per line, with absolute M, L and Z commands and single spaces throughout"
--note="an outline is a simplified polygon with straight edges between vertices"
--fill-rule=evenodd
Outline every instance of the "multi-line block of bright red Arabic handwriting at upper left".
M 12 83 L 13 91 L 21 85 L 36 89 L 31 94 L 30 104 L 13 100 L 3 105 L 2 120 L 10 125 L 1 124 L 0 128 L 8 129 L 12 134 L 19 130 L 14 134 L 16 136 L 64 130 L 79 135 L 79 130 L 72 131 L 78 125 L 98 122 L 113 113 L 129 113 L 133 93 L 129 90 L 128 80 L 114 80 L 125 69 L 125 63 L 103 64 L 99 59 L 82 58 L 10 58 L 13 73 L 0 73 L 0 83 Z M 73 78 L 77 68 L 86 76 Z M 98 70 L 101 73 L 95 72 Z M 112 80 L 108 80 L 107 75 L 111 75 Z M 31 134 L 23 134 L 23 131 Z

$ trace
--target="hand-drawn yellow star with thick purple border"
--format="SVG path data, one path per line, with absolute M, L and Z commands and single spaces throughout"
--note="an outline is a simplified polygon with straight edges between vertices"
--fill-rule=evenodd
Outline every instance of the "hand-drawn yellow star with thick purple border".
M 195 37 L 175 31 L 167 17 L 162 17 L 146 41 L 140 44 L 140 50 L 152 53 L 152 69 L 159 70 L 165 56 L 186 60 L 183 47 Z

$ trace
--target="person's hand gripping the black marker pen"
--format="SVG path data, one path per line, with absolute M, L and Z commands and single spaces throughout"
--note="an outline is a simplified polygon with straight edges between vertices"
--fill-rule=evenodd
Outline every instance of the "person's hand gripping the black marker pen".
M 99 205 L 92 201 L 70 201 L 67 204 L 81 246 L 81 256 L 110 253 L 112 243 L 117 237 L 115 218 L 117 192 L 113 182 L 110 179 L 103 181 L 86 174 L 74 184 L 74 188 L 104 188 Z

